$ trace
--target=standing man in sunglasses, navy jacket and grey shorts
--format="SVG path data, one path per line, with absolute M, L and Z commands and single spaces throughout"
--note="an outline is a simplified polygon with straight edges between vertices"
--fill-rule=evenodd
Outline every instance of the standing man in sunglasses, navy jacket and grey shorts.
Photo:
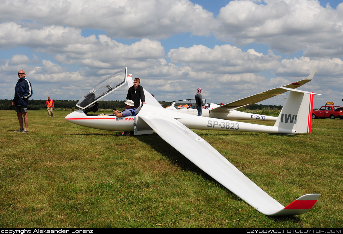
M 14 99 L 12 101 L 12 106 L 14 106 L 15 112 L 17 112 L 17 117 L 20 124 L 20 129 L 15 132 L 27 133 L 28 117 L 27 117 L 27 103 L 28 98 L 32 96 L 32 86 L 31 83 L 26 79 L 25 72 L 20 70 L 18 72 L 18 82 L 15 85 Z M 24 117 L 24 120 L 23 120 Z M 25 121 L 25 127 L 23 125 Z

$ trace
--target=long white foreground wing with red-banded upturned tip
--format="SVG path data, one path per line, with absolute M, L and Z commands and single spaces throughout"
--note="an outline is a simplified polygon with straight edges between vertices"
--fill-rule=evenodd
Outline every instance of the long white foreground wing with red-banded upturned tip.
M 204 139 L 167 113 L 164 114 L 163 111 L 158 113 L 154 111 L 153 113 L 143 107 L 139 117 L 201 170 L 261 213 L 281 216 L 301 214 L 308 211 L 318 199 L 319 194 L 304 195 L 284 207 L 240 172 Z M 194 118 L 197 117 L 194 116 Z M 184 147 L 185 142 L 188 147 Z

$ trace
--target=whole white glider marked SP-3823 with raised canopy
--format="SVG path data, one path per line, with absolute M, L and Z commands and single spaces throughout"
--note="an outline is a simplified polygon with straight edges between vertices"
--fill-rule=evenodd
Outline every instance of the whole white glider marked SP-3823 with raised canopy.
M 125 68 L 98 83 L 76 104 L 81 109 L 68 114 L 66 120 L 81 126 L 103 130 L 134 131 L 135 135 L 149 134 L 154 130 L 201 170 L 265 215 L 297 215 L 307 212 L 314 206 L 320 194 L 306 194 L 284 207 L 190 128 L 282 134 L 309 133 L 311 132 L 313 97 L 318 94 L 278 87 L 289 91 L 289 96 L 274 126 L 170 111 L 164 109 L 145 89 L 147 104 L 143 105 L 136 116 L 116 118 L 116 116 L 88 114 L 90 111 L 97 110 L 97 100 L 124 85 L 127 78 L 127 69 Z M 185 143 L 188 147 L 183 147 Z

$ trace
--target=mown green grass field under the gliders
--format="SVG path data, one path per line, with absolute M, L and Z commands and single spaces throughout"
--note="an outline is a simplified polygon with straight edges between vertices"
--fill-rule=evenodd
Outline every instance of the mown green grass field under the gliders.
M 0 227 L 343 226 L 343 120 L 315 119 L 299 135 L 194 131 L 283 205 L 321 194 L 309 212 L 275 218 L 156 133 L 122 137 L 71 124 L 68 113 L 29 111 L 25 134 L 14 132 L 14 111 L 0 111 Z

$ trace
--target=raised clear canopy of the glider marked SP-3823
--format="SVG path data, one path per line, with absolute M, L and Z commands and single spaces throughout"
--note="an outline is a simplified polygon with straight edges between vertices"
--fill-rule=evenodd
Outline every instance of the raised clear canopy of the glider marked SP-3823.
M 91 90 L 84 95 L 76 106 L 85 109 L 89 107 L 94 102 L 102 99 L 106 95 L 110 94 L 114 90 L 118 89 L 120 86 L 126 83 L 127 68 L 117 70 L 115 73 L 107 76 L 103 81 L 100 81 Z

